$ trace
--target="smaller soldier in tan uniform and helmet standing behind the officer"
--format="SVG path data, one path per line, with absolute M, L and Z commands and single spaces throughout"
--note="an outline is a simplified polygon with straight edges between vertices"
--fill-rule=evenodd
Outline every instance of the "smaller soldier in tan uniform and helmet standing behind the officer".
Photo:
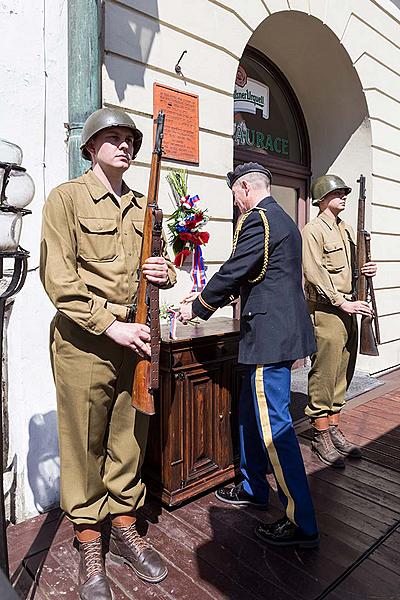
M 339 218 L 351 192 L 340 177 L 324 175 L 311 188 L 319 215 L 302 232 L 305 294 L 317 342 L 311 357 L 306 415 L 313 424 L 312 449 L 333 467 L 345 466 L 343 457 L 360 457 L 360 449 L 339 428 L 345 392 L 357 358 L 357 314 L 370 315 L 366 302 L 354 300 L 355 237 Z M 376 274 L 376 264 L 362 272 Z

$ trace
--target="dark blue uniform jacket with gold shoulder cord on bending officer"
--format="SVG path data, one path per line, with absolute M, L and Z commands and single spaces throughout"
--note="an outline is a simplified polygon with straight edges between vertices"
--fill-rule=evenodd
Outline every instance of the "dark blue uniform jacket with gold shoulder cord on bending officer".
M 264 260 L 264 211 L 270 229 L 268 267 Z M 239 362 L 273 364 L 315 352 L 315 339 L 302 286 L 301 236 L 293 220 L 272 198 L 264 198 L 244 221 L 236 250 L 193 302 L 193 312 L 208 319 L 240 295 Z

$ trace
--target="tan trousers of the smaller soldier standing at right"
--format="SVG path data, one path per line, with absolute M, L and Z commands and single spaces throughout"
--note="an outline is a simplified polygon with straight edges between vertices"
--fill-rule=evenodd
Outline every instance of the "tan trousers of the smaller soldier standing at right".
M 311 356 L 308 375 L 310 418 L 338 413 L 354 375 L 358 329 L 356 315 L 348 315 L 336 306 L 308 303 L 317 351 Z

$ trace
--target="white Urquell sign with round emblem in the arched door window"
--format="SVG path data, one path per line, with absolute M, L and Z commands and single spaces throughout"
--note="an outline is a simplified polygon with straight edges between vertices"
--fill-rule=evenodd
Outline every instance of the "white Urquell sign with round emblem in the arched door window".
M 247 73 L 241 65 L 236 75 L 233 99 L 235 112 L 247 112 L 255 115 L 259 110 L 264 119 L 269 118 L 269 87 L 247 77 Z

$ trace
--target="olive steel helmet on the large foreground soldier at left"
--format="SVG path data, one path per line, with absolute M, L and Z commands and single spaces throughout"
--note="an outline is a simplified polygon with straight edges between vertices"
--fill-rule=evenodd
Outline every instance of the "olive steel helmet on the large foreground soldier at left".
M 135 158 L 142 145 L 143 134 L 136 127 L 131 117 L 124 111 L 118 108 L 100 108 L 92 113 L 85 121 L 81 136 L 81 152 L 83 158 L 91 160 L 90 154 L 86 149 L 88 141 L 108 127 L 128 127 L 133 133 L 133 156 Z

